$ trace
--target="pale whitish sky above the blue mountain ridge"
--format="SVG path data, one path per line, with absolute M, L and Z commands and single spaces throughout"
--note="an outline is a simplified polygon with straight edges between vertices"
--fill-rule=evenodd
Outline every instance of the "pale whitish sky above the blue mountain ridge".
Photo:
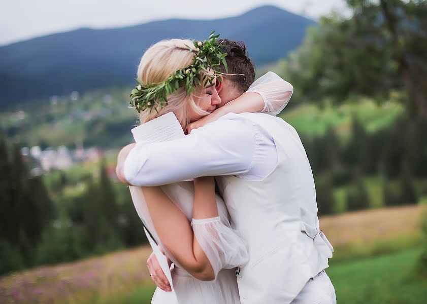
M 275 5 L 317 20 L 337 11 L 348 14 L 344 0 L 4 0 L 0 46 L 80 27 L 123 27 L 168 18 L 216 19 Z

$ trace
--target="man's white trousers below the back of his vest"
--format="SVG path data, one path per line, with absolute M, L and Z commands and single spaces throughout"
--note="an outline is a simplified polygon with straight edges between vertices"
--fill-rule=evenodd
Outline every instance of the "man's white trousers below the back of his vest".
M 308 280 L 291 304 L 336 304 L 335 288 L 324 271 Z

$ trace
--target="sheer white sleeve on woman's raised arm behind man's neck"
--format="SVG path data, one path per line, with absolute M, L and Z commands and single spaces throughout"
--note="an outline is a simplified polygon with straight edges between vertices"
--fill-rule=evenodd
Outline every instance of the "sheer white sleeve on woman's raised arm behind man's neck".
M 258 93 L 264 99 L 262 112 L 280 113 L 290 100 L 293 87 L 274 72 L 268 72 L 258 78 L 247 92 Z

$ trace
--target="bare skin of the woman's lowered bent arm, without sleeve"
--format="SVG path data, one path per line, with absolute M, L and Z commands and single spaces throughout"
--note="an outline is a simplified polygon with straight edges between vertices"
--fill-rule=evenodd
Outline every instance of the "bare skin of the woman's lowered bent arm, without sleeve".
M 199 179 L 194 180 L 194 185 L 193 212 L 201 216 L 200 218 L 217 217 L 218 209 L 212 188 L 214 186 L 209 186 L 206 180 Z M 212 265 L 196 240 L 184 213 L 160 187 L 143 187 L 143 191 L 151 219 L 163 246 L 193 277 L 203 281 L 213 280 L 215 275 Z M 204 197 L 205 194 L 208 196 Z

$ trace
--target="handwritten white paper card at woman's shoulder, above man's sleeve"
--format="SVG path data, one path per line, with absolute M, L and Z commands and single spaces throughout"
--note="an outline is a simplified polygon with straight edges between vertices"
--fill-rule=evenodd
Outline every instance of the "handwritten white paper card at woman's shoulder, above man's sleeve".
M 131 130 L 135 142 L 161 142 L 184 137 L 181 124 L 173 112 L 166 113 Z

